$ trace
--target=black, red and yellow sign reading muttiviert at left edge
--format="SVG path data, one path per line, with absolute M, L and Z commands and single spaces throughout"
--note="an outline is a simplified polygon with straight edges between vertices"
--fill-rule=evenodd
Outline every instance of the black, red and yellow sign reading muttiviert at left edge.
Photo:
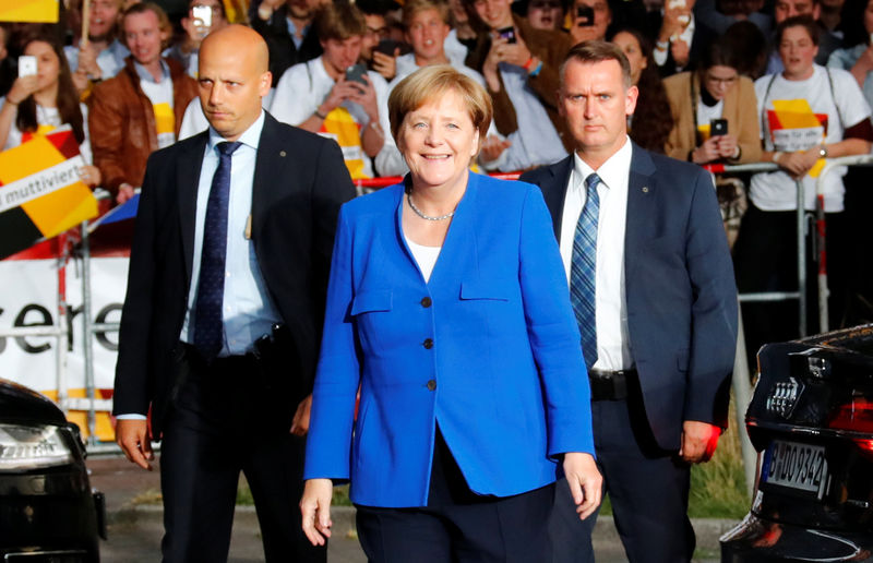
M 0 153 L 0 260 L 97 215 L 69 127 Z

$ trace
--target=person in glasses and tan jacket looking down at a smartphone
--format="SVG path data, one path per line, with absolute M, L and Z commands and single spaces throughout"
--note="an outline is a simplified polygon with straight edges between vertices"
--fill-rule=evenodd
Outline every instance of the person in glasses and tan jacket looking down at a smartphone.
M 761 130 L 752 81 L 726 40 L 710 44 L 696 71 L 663 81 L 673 129 L 667 155 L 696 164 L 761 160 Z

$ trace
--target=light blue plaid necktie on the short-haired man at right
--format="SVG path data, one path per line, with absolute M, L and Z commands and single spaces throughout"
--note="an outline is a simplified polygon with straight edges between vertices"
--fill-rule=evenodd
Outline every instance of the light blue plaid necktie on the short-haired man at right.
M 582 354 L 585 366 L 590 371 L 597 361 L 597 314 L 595 310 L 595 279 L 597 275 L 597 219 L 600 213 L 600 197 L 596 173 L 585 179 L 587 196 L 585 207 L 576 223 L 573 236 L 573 259 L 570 264 L 570 300 L 576 313 L 576 322 L 582 333 Z

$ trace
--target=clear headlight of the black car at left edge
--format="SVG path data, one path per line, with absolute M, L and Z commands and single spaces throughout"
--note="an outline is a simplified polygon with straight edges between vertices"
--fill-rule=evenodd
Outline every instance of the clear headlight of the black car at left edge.
M 0 423 L 0 471 L 65 465 L 73 460 L 61 427 Z

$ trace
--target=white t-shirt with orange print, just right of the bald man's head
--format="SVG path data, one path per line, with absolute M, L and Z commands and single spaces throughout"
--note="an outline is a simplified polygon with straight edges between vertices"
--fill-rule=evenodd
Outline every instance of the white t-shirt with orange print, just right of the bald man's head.
M 379 73 L 368 71 L 367 76 L 375 89 L 379 122 L 385 135 L 390 135 L 388 85 Z M 285 123 L 299 125 L 319 108 L 334 87 L 322 57 L 289 68 L 276 84 L 276 93 L 270 112 Z M 367 111 L 352 101 L 344 101 L 327 115 L 319 134 L 333 139 L 343 149 L 343 158 L 352 179 L 372 178 L 373 166 L 361 146 L 360 136 L 370 123 Z M 357 130 L 357 131 L 356 131 Z M 355 140 L 356 135 L 360 135 Z

